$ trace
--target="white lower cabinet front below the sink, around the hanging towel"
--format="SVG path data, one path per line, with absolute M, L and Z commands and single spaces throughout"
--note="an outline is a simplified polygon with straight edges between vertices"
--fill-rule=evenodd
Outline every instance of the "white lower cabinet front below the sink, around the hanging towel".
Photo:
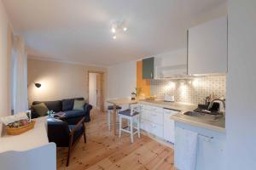
M 194 127 L 182 122 L 175 123 L 176 128 L 183 128 L 198 133 L 197 150 L 196 150 L 196 170 L 224 170 L 224 141 L 225 133 L 218 133 L 201 127 Z M 211 139 L 212 137 L 212 139 Z M 176 133 L 176 139 L 183 138 L 180 133 Z M 188 138 L 189 141 L 189 138 Z M 175 148 L 174 154 L 182 152 L 183 148 Z M 186 157 L 174 156 L 174 161 Z M 175 165 L 177 167 L 177 165 Z M 177 167 L 179 168 L 179 167 Z

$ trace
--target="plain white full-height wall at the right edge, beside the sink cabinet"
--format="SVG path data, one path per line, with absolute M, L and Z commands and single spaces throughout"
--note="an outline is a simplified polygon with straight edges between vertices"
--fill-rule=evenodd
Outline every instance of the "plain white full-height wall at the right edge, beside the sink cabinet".
M 256 169 L 256 1 L 229 1 L 226 169 Z

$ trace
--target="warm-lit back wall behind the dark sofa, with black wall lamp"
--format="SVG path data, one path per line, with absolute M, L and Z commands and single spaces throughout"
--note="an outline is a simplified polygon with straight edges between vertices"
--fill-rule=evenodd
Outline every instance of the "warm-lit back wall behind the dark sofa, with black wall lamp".
M 88 99 L 88 71 L 102 71 L 107 78 L 107 69 L 87 65 L 28 59 L 27 84 L 29 105 L 35 100 L 55 100 L 84 97 Z M 36 88 L 33 82 L 42 84 Z M 107 83 L 104 82 L 104 91 Z

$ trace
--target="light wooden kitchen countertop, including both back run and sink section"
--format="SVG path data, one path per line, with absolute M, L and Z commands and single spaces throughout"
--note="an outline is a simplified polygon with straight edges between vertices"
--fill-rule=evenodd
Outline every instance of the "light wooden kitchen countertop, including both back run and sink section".
M 183 113 L 186 111 L 194 111 L 197 108 L 197 105 L 182 102 L 165 102 L 163 100 L 140 100 L 139 102 L 145 105 L 155 105 L 167 109 L 172 109 L 175 111 L 180 111 L 179 113 L 170 117 L 174 121 L 187 123 L 197 127 L 207 128 L 221 133 L 225 132 L 224 118 L 221 118 L 219 119 L 219 121 L 214 122 L 207 121 L 198 117 L 183 115 Z

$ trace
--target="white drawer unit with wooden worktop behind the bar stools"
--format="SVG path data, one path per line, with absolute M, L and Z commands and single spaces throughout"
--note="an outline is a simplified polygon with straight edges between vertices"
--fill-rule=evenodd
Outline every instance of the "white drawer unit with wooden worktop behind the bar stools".
M 175 126 L 171 116 L 195 109 L 195 105 L 163 100 L 144 100 L 141 105 L 141 128 L 168 143 L 175 143 Z

